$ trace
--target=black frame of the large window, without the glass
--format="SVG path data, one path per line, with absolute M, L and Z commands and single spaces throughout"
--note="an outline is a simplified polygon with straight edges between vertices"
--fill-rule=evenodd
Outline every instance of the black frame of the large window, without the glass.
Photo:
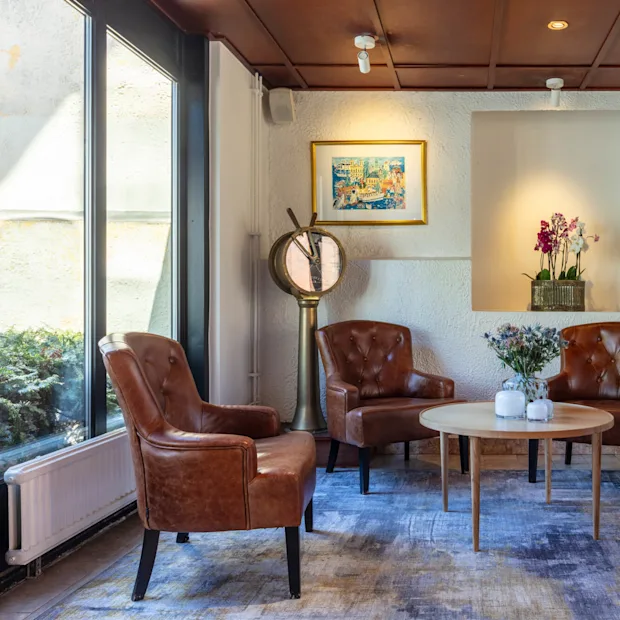
M 173 183 L 175 331 L 202 398 L 209 387 L 209 44 L 188 35 L 148 0 L 67 1 L 85 20 L 85 419 L 87 437 L 106 433 L 106 372 L 97 347 L 106 335 L 106 73 L 112 31 L 176 82 Z M 0 591 L 26 574 L 9 567 L 8 494 L 0 472 Z M 93 481 L 96 482 L 96 481 Z M 63 551 L 66 550 L 63 545 Z M 53 554 L 48 554 L 50 559 Z M 47 557 L 47 556 L 46 556 Z

